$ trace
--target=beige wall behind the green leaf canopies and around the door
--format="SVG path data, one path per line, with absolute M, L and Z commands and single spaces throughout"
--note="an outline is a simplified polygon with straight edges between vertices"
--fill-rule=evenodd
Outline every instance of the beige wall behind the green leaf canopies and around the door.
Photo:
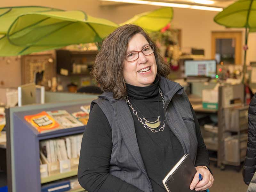
M 60 8 L 64 10 L 83 10 L 87 14 L 112 20 L 116 23 L 124 22 L 133 15 L 140 12 L 157 9 L 151 5 L 124 5 L 124 6 L 100 6 L 98 0 L 2 0 L 0 7 L 40 5 Z M 181 29 L 181 46 L 196 47 L 205 50 L 205 57 L 211 58 L 211 32 L 230 31 L 244 29 L 226 29 L 213 21 L 218 12 L 174 8 L 172 27 Z M 249 35 L 249 50 L 247 52 L 247 63 L 256 60 L 256 33 Z M 244 33 L 243 33 L 244 41 Z M 244 42 L 243 42 L 244 44 Z M 242 50 L 242 47 L 241 47 Z M 243 54 L 242 54 L 243 58 Z M 242 59 L 243 60 L 243 59 Z

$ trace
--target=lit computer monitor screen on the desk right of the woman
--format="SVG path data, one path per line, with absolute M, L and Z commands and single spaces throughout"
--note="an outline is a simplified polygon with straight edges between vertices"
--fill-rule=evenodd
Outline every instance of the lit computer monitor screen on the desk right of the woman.
M 215 78 L 216 60 L 185 60 L 185 76 L 206 76 Z

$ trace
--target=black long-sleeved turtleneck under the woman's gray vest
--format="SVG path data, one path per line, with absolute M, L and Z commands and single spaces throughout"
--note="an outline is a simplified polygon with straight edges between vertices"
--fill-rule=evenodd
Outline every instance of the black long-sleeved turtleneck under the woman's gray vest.
M 147 87 L 126 84 L 128 98 L 141 119 L 145 117 L 148 121 L 155 121 L 157 116 L 160 116 L 161 124 L 156 130 L 163 126 L 164 121 L 163 101 L 159 93 L 158 81 L 159 78 L 157 77 L 155 82 Z M 195 166 L 205 165 L 209 167 L 209 156 L 201 136 L 200 127 L 193 108 L 191 106 L 190 108 L 195 119 L 198 140 Z M 129 109 L 132 113 L 132 109 L 130 107 Z M 154 133 L 144 128 L 133 113 L 132 117 L 140 153 L 152 188 L 154 192 L 165 192 L 162 180 L 184 155 L 184 151 L 167 124 L 162 132 Z M 86 172 L 79 180 L 81 186 L 89 192 L 141 192 L 140 189 L 109 174 L 111 151 L 111 127 L 100 107 L 95 104 L 82 140 L 79 162 L 83 162 L 83 164 L 79 163 L 78 171 Z

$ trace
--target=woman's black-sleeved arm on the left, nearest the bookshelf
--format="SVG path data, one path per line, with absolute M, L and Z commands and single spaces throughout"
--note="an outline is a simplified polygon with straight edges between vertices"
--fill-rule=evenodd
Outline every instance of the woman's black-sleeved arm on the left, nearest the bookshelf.
M 80 185 L 90 192 L 143 192 L 109 173 L 111 152 L 111 127 L 100 107 L 94 104 L 80 151 Z

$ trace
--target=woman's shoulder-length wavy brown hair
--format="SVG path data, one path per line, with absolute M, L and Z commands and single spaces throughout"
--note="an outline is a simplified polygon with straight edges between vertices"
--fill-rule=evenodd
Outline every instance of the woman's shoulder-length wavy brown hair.
M 148 34 L 137 25 L 123 25 L 103 40 L 92 69 L 92 75 L 97 83 L 100 84 L 101 90 L 113 92 L 114 99 L 123 99 L 126 94 L 126 85 L 123 77 L 125 54 L 130 39 L 138 33 L 146 38 L 149 45 L 155 47 L 154 55 L 157 74 L 166 77 L 170 73 L 169 65 L 163 60 L 156 44 Z

